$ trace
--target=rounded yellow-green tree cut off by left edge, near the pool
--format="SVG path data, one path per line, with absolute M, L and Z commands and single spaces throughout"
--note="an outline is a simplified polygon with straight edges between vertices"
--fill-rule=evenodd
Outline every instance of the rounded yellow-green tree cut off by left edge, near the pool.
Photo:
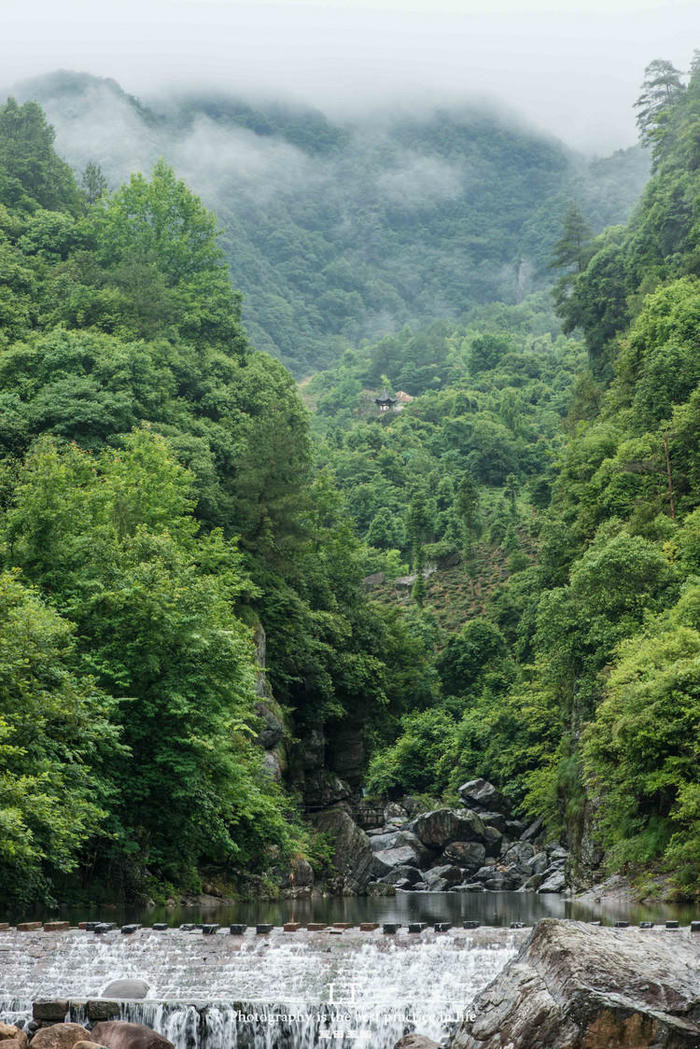
M 0 892 L 50 901 L 58 874 L 107 820 L 108 770 L 124 751 L 114 703 L 81 671 L 71 623 L 0 573 Z

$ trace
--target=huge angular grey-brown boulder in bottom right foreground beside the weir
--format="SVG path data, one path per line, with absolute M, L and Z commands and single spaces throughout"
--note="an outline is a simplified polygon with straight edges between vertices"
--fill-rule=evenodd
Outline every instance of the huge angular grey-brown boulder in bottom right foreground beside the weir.
M 449 1049 L 697 1049 L 698 947 L 684 932 L 546 918 Z

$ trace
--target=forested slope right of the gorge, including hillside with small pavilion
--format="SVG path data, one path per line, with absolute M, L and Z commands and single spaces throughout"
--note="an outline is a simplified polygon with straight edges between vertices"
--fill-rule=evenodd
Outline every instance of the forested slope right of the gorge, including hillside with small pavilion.
M 653 63 L 646 88 L 640 125 L 654 176 L 640 205 L 628 226 L 593 239 L 572 209 L 556 245 L 558 311 L 565 329 L 582 331 L 588 363 L 533 302 L 346 354 L 309 389 L 321 461 L 375 548 L 367 570 L 390 580 L 411 561 L 413 600 L 439 650 L 442 698 L 405 715 L 375 752 L 370 787 L 450 796 L 483 775 L 522 812 L 547 813 L 582 880 L 600 864 L 671 872 L 692 894 L 697 61 L 687 86 Z M 363 390 L 379 384 L 419 395 L 378 418 Z M 451 570 L 458 583 L 446 590 L 440 569 L 457 553 L 461 579 Z M 430 561 L 438 572 L 424 578 Z M 380 593 L 393 599 L 390 585 Z

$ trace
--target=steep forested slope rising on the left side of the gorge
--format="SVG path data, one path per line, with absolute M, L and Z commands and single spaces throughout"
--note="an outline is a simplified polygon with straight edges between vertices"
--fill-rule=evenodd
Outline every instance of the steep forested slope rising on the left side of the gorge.
M 73 896 L 158 894 L 315 855 L 253 742 L 260 621 L 290 741 L 407 708 L 405 669 L 428 659 L 363 594 L 213 217 L 164 163 L 83 192 L 52 137 L 35 103 L 0 108 L 5 906 L 65 877 Z

